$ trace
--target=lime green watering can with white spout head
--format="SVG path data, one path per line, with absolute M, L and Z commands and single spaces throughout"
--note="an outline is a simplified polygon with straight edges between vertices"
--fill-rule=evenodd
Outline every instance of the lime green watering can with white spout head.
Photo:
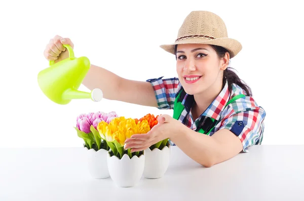
M 69 57 L 55 63 L 50 61 L 50 66 L 38 74 L 38 84 L 43 93 L 53 102 L 64 105 L 72 99 L 91 99 L 98 102 L 103 94 L 100 89 L 91 92 L 78 91 L 90 68 L 87 57 L 74 57 L 73 49 L 63 45 Z

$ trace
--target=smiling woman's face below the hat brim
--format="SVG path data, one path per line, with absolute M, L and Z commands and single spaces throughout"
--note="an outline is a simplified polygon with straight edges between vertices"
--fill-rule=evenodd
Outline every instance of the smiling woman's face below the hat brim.
M 222 83 L 223 70 L 229 59 L 219 59 L 205 44 L 180 44 L 176 52 L 176 71 L 187 94 L 199 94 Z M 225 55 L 227 57 L 227 55 Z M 220 82 L 220 83 L 218 83 Z

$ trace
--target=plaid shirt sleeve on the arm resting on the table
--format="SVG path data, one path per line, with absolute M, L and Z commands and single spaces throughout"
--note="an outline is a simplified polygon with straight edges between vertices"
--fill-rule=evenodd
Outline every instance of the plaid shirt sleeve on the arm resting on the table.
M 252 103 L 251 107 L 248 107 L 246 102 L 233 103 L 219 128 L 228 129 L 238 136 L 243 144 L 243 152 L 248 152 L 248 146 L 261 143 L 266 115 L 265 110 L 254 105 L 250 97 L 246 99 Z

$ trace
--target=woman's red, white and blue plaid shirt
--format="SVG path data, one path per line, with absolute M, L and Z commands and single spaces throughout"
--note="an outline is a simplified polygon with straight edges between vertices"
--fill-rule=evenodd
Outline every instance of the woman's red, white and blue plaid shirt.
M 159 109 L 173 109 L 174 100 L 177 93 L 182 88 L 178 77 L 163 79 L 148 79 L 156 94 Z M 220 129 L 229 129 L 238 136 L 243 144 L 243 152 L 248 152 L 248 146 L 261 144 L 263 138 L 265 111 L 258 106 L 252 97 L 246 96 L 237 99 L 235 102 L 225 105 L 234 96 L 245 94 L 246 92 L 236 84 L 233 84 L 232 91 L 228 90 L 226 82 L 219 95 L 213 100 L 206 111 L 197 119 L 193 119 L 191 106 L 193 105 L 193 95 L 186 94 L 182 100 L 184 110 L 182 111 L 179 122 L 192 130 L 197 130 L 201 118 L 212 117 L 217 120 L 217 124 L 210 136 Z M 170 141 L 171 145 L 175 145 Z

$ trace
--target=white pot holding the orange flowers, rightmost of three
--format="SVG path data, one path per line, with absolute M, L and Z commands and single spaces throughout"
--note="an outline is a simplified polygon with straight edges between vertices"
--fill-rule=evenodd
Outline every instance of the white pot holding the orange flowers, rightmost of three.
M 144 150 L 145 165 L 143 176 L 147 179 L 157 179 L 164 176 L 168 169 L 170 161 L 170 144 L 162 150 L 155 148 L 152 151 L 150 148 Z

